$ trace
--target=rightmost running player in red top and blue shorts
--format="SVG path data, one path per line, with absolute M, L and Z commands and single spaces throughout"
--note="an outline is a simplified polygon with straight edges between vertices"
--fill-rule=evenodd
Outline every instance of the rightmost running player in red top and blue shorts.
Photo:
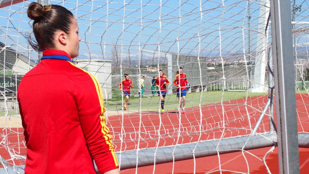
M 184 111 L 184 107 L 186 106 L 187 86 L 189 83 L 186 74 L 183 73 L 182 67 L 179 68 L 179 73 L 175 76 L 174 85 L 177 86 L 177 97 L 180 110 Z M 181 98 L 183 107 L 181 107 Z

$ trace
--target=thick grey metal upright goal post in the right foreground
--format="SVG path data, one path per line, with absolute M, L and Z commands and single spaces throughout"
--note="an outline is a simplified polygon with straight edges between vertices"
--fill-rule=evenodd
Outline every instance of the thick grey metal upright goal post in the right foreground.
M 291 4 L 290 0 L 270 0 L 276 91 L 279 173 L 298 174 L 299 155 Z

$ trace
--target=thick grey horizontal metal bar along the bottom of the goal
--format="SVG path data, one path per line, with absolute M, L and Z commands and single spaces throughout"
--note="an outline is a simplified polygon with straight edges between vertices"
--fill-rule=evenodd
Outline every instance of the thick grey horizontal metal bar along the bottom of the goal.
M 232 143 L 231 143 L 232 142 Z M 179 160 L 192 159 L 217 155 L 217 149 L 220 154 L 232 153 L 243 150 L 250 150 L 256 148 L 276 146 L 277 134 L 267 133 L 254 135 L 252 137 L 235 137 L 215 141 L 202 141 L 197 143 L 182 144 L 180 146 L 167 146 L 160 147 L 158 150 L 150 148 L 147 150 L 130 150 L 122 153 L 116 152 L 116 156 L 119 159 L 123 158 L 120 169 L 129 169 L 136 166 L 143 167 L 156 163 L 169 163 Z M 309 135 L 298 134 L 299 147 L 309 148 Z M 176 150 L 174 150 L 176 148 Z M 155 151 L 157 151 L 155 153 Z M 156 158 L 154 158 L 156 157 Z M 173 159 L 175 158 L 175 159 Z M 2 159 L 3 160 L 3 159 Z M 96 165 L 94 163 L 94 167 Z M 0 174 L 20 172 L 23 174 L 24 166 L 16 166 L 15 168 L 7 165 L 6 168 L 0 168 Z

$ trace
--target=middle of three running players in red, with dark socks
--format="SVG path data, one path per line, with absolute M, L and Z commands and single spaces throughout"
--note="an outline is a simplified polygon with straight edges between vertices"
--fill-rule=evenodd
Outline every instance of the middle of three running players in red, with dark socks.
M 162 109 L 162 112 L 164 112 L 164 100 L 165 100 L 165 96 L 166 96 L 166 85 L 169 85 L 170 82 L 168 81 L 167 76 L 164 75 L 162 70 L 160 70 L 159 73 L 160 73 L 160 76 L 158 76 L 156 78 L 155 83 L 159 87 L 158 94 L 161 98 L 161 109 Z

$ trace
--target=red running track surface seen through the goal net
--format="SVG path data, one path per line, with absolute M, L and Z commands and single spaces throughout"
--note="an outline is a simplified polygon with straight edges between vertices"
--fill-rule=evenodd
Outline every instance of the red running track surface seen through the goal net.
M 298 113 L 298 131 L 309 132 L 309 117 L 307 111 L 309 107 L 308 95 L 297 94 L 297 113 Z M 250 129 L 256 124 L 256 120 L 263 110 L 267 96 L 238 99 L 223 103 L 204 105 L 186 109 L 185 113 L 180 114 L 178 111 L 167 111 L 161 114 L 161 120 L 158 112 L 142 112 L 125 114 L 122 116 L 109 116 L 108 126 L 114 135 L 116 150 L 136 149 L 137 141 L 140 139 L 139 148 L 150 148 L 155 146 L 168 146 L 194 142 L 199 140 L 211 140 L 214 138 L 234 137 L 239 135 L 250 134 Z M 223 107 L 222 107 L 223 106 Z M 200 114 L 202 113 L 202 116 Z M 301 121 L 299 121 L 301 120 Z M 160 124 L 161 121 L 161 124 Z M 123 122 L 123 126 L 122 125 Z M 181 124 L 179 124 L 181 123 Z M 201 123 L 201 128 L 200 128 Z M 139 130 L 139 125 L 141 129 Z M 251 126 L 250 126 L 251 125 Z M 223 127 L 224 126 L 224 127 Z M 12 130 L 16 131 L 16 128 Z M 18 132 L 21 133 L 22 128 Z M 138 135 L 136 132 L 140 131 Z M 269 121 L 265 115 L 257 132 L 263 133 L 269 131 Z M 122 134 L 121 134 L 122 133 Z M 160 133 L 160 136 L 158 135 Z M 122 136 L 122 137 L 121 137 Z M 25 148 L 19 141 L 23 140 L 22 134 L 16 134 L 13 131 L 9 133 L 8 140 L 10 147 L 25 156 Z M 120 138 L 123 143 L 121 146 Z M 158 144 L 159 141 L 159 144 Z M 18 148 L 20 145 L 23 148 Z M 271 147 L 249 150 L 251 154 L 244 151 L 230 154 L 220 154 L 210 157 L 198 158 L 195 160 L 196 173 L 220 173 L 219 163 L 221 164 L 222 173 L 267 173 L 266 166 L 262 159 Z M 1 155 L 9 159 L 10 155 L 0 147 Z M 252 155 L 253 154 L 253 155 Z M 220 159 L 219 159 L 220 158 Z M 266 164 L 272 173 L 278 173 L 277 148 L 266 155 Z M 301 173 L 307 173 L 309 170 L 309 148 L 299 148 L 299 161 Z M 15 162 L 19 165 L 21 161 Z M 184 174 L 193 173 L 194 160 L 184 160 L 174 163 L 157 164 L 154 166 L 138 167 L 138 173 L 174 173 Z M 234 171 L 234 172 L 231 172 Z M 135 173 L 136 169 L 122 170 L 121 173 Z

